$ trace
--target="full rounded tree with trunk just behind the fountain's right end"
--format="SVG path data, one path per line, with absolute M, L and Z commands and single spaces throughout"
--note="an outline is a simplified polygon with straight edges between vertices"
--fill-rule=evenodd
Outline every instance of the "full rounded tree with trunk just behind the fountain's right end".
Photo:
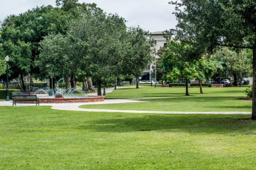
M 121 68 L 125 54 L 124 35 L 125 20 L 117 14 L 104 13 L 96 6 L 90 6 L 82 18 L 76 20 L 70 28 L 70 34 L 84 44 L 79 50 L 81 70 L 96 79 L 98 95 L 101 95 L 101 84 Z

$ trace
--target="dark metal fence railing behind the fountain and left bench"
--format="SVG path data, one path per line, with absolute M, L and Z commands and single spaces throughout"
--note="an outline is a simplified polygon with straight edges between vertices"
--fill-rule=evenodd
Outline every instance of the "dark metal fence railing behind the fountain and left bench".
M 20 89 L 20 91 L 34 91 L 38 88 L 47 87 L 47 83 L 8 83 L 8 89 Z M 2 84 L 2 89 L 6 89 L 6 83 Z

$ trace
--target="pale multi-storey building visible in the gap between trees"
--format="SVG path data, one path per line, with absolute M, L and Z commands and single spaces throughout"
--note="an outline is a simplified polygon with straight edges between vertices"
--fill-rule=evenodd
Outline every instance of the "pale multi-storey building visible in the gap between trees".
M 151 33 L 151 38 L 156 40 L 156 51 L 160 49 L 160 47 L 166 47 L 167 41 L 163 37 L 163 32 L 153 32 Z M 155 58 L 159 58 L 158 55 L 155 55 Z M 148 66 L 148 69 L 144 70 L 143 75 L 141 76 L 142 80 L 151 80 L 151 71 L 153 72 L 152 66 L 155 64 L 152 63 L 150 66 Z M 152 78 L 152 80 L 155 80 L 155 78 Z

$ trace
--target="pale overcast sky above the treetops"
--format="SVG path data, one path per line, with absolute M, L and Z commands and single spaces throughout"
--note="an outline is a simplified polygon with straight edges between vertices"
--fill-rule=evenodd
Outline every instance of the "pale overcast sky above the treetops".
M 170 0 L 79 0 L 80 3 L 96 3 L 107 13 L 117 13 L 125 18 L 127 26 L 137 26 L 150 32 L 164 31 L 174 28 L 174 7 L 168 4 Z M 10 14 L 18 15 L 36 6 L 52 5 L 55 0 L 1 0 L 0 20 Z

